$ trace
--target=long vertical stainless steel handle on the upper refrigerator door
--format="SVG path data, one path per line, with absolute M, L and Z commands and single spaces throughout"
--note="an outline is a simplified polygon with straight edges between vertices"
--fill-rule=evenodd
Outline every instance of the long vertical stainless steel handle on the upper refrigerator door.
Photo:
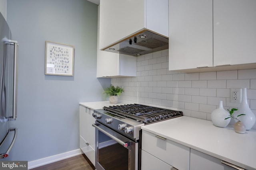
M 8 121 L 15 120 L 17 117 L 17 78 L 18 78 L 18 41 L 11 39 L 4 39 L 5 43 L 14 45 L 14 68 L 13 68 L 13 107 L 12 116 L 8 117 Z

